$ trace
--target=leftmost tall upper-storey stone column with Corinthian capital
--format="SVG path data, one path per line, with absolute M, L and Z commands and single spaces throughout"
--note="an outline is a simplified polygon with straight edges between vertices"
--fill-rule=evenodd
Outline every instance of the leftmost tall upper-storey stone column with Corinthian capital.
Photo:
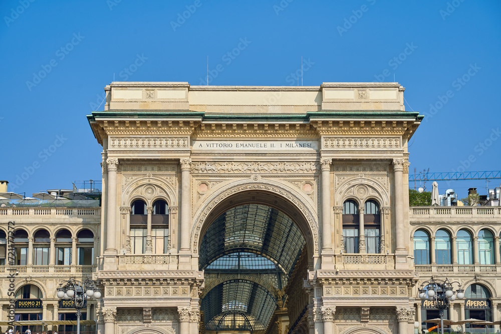
M 118 159 L 107 159 L 108 167 L 108 217 L 105 226 L 106 252 L 117 252 L 116 211 L 117 211 L 117 168 Z

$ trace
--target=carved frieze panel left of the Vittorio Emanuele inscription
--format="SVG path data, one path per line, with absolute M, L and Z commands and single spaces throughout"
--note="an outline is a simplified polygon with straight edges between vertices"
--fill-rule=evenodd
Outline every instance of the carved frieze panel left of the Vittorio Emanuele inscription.
M 109 147 L 114 148 L 185 148 L 187 137 L 112 137 Z

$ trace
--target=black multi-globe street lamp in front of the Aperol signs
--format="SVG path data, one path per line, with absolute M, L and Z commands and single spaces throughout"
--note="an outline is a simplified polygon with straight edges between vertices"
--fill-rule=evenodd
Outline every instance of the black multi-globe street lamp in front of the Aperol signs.
M 457 283 L 458 288 L 456 291 L 452 290 L 452 284 Z M 424 289 L 426 287 L 427 290 Z M 449 307 L 450 302 L 455 299 L 464 298 L 464 290 L 461 289 L 461 284 L 458 281 L 451 282 L 445 277 L 443 282 L 435 281 L 433 276 L 429 281 L 421 283 L 419 289 L 419 298 L 428 298 L 433 302 L 433 306 L 438 309 L 440 315 L 440 331 L 443 334 L 443 311 Z

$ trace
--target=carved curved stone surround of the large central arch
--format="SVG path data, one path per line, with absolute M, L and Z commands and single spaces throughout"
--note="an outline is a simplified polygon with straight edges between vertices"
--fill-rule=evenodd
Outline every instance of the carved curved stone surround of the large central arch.
M 224 211 L 243 204 L 264 204 L 287 212 L 301 230 L 311 259 L 318 258 L 321 240 L 312 200 L 286 182 L 263 180 L 259 175 L 221 185 L 213 189 L 211 195 L 201 203 L 193 217 L 194 224 L 190 233 L 190 244 L 195 257 L 198 256 L 201 237 L 212 221 Z

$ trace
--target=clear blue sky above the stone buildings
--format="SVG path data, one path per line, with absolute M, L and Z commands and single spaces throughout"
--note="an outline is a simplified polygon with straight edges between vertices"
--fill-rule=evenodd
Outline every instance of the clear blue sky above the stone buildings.
M 212 85 L 297 85 L 301 56 L 305 86 L 395 75 L 406 109 L 427 115 L 411 170 L 501 169 L 501 2 L 289 1 L 3 0 L 0 179 L 27 195 L 99 180 L 85 116 L 103 110 L 104 86 L 199 85 L 207 56 Z M 460 197 L 470 186 L 485 193 L 484 181 L 439 182 Z

